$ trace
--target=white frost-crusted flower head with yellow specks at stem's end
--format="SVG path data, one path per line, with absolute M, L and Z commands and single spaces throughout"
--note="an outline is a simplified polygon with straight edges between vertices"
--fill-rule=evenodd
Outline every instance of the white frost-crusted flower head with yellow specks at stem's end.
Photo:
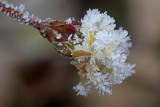
M 83 50 L 91 55 L 76 57 L 72 62 L 81 77 L 81 82 L 73 87 L 77 95 L 91 94 L 93 86 L 99 95 L 111 95 L 112 85 L 121 84 L 135 73 L 135 65 L 125 62 L 132 46 L 128 32 L 122 28 L 115 30 L 114 22 L 106 12 L 97 9 L 88 10 L 81 20 L 84 39 L 82 44 L 75 45 L 74 51 Z

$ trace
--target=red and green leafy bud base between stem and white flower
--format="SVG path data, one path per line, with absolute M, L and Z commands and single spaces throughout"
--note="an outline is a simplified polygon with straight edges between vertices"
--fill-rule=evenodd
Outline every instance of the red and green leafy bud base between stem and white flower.
M 69 58 L 73 58 L 74 46 L 82 43 L 82 35 L 76 29 L 80 23 L 70 20 L 68 22 L 43 21 L 39 28 L 44 38 L 47 38 L 56 48 L 57 52 Z

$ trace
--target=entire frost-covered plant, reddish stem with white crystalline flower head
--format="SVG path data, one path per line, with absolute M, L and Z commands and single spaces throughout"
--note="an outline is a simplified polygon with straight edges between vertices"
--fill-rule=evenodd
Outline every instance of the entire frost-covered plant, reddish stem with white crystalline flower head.
M 93 87 L 99 95 L 111 95 L 112 85 L 121 84 L 135 73 L 135 65 L 126 63 L 132 46 L 128 32 L 122 28 L 116 30 L 115 20 L 107 12 L 89 9 L 80 22 L 74 18 L 42 20 L 24 12 L 24 5 L 14 6 L 5 0 L 0 1 L 0 11 L 35 27 L 60 55 L 73 59 L 71 63 L 77 67 L 81 78 L 73 87 L 77 95 L 87 96 Z

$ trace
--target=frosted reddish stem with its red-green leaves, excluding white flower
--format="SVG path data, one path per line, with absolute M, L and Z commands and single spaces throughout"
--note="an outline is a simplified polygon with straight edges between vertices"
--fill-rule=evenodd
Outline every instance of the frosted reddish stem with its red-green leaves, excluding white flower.
M 70 40 L 69 37 L 76 34 L 75 36 L 82 38 L 81 34 L 77 32 L 81 23 L 71 18 L 66 20 L 66 22 L 56 21 L 51 18 L 42 20 L 33 14 L 30 15 L 28 11 L 24 12 L 24 8 L 23 4 L 14 6 L 5 0 L 0 1 L 0 11 L 4 15 L 21 22 L 21 24 L 35 27 L 44 38 L 55 46 L 58 53 L 63 56 L 72 57 L 73 46 L 77 43 L 73 40 L 74 37 L 70 38 Z

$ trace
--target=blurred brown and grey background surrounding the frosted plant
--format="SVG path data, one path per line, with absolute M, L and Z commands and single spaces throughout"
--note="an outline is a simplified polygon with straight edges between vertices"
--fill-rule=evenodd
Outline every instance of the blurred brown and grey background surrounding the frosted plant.
M 160 0 L 8 0 L 40 18 L 80 20 L 89 8 L 107 11 L 129 31 L 128 62 L 136 74 L 113 95 L 76 96 L 70 59 L 60 57 L 39 32 L 0 13 L 0 107 L 160 107 Z

